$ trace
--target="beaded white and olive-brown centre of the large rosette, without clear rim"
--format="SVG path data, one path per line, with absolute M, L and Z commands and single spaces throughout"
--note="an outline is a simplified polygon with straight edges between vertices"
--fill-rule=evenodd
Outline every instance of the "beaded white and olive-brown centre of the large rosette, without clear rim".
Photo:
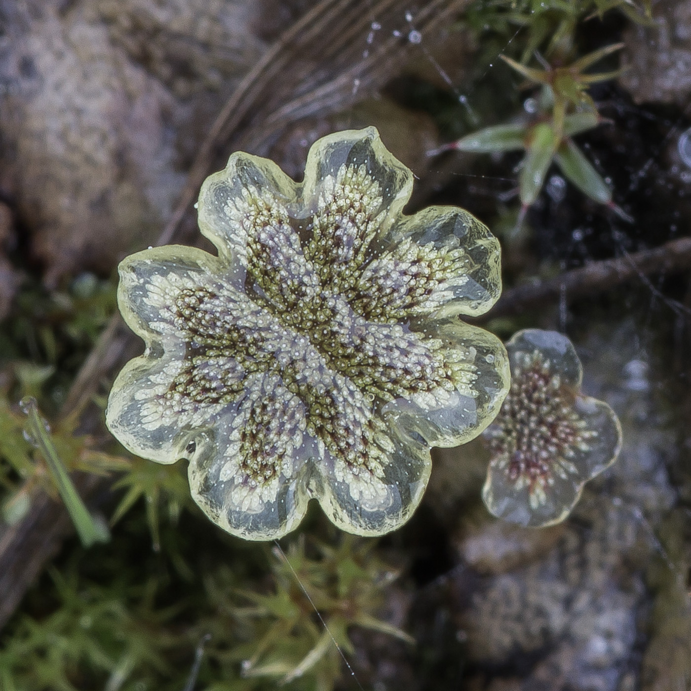
M 249 186 L 226 207 L 244 286 L 179 271 L 147 285 L 153 328 L 184 341 L 184 357 L 149 376 L 142 422 L 193 426 L 236 406 L 221 477 L 244 478 L 234 501 L 248 511 L 275 497 L 303 435 L 355 499 L 374 501 L 394 448 L 379 407 L 443 405 L 472 388 L 472 364 L 398 323 L 448 300 L 468 259 L 410 240 L 378 251 L 382 203 L 364 164 L 343 166 L 325 178 L 301 240 L 287 209 Z

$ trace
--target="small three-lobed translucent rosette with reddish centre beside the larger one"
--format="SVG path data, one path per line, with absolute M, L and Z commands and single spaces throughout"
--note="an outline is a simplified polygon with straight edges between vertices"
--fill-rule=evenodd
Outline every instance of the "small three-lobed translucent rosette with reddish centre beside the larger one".
M 526 329 L 507 350 L 511 390 L 484 432 L 492 460 L 482 498 L 498 518 L 547 526 L 616 461 L 621 426 L 612 408 L 580 393 L 583 368 L 567 337 Z

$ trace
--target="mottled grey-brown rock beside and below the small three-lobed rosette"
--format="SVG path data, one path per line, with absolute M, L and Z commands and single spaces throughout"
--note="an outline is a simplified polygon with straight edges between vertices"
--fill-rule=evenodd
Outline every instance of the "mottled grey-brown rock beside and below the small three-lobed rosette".
M 677 681 L 686 673 L 688 569 L 660 537 L 679 495 L 669 473 L 679 448 L 650 343 L 633 320 L 591 325 L 577 341 L 583 390 L 616 410 L 624 444 L 564 524 L 521 530 L 459 507 L 459 565 L 435 598 L 465 641 L 464 688 L 656 691 L 674 688 L 665 665 Z

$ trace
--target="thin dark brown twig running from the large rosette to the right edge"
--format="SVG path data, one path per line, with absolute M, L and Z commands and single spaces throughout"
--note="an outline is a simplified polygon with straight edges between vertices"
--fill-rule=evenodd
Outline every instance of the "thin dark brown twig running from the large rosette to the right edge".
M 564 299 L 574 301 L 650 274 L 673 274 L 691 268 L 691 238 L 679 238 L 642 252 L 596 261 L 538 283 L 517 285 L 502 294 L 486 315 L 509 316 Z

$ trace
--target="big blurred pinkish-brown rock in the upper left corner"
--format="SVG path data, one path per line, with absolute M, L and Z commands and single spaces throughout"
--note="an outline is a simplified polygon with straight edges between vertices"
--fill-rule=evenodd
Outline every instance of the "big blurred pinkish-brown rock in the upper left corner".
M 176 133 L 193 150 L 216 115 L 183 95 L 230 89 L 256 60 L 250 6 L 0 1 L 0 184 L 48 283 L 155 240 L 184 180 Z

